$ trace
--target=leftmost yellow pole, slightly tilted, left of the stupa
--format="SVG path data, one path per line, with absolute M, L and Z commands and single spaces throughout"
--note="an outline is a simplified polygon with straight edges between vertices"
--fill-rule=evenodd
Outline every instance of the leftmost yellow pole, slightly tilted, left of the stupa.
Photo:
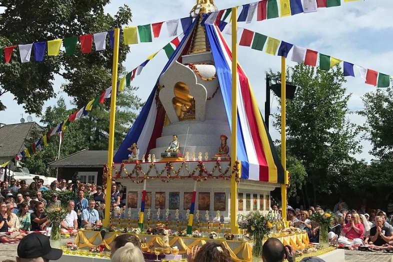
M 106 177 L 105 194 L 105 218 L 102 223 L 109 225 L 110 215 L 110 190 L 112 186 L 112 162 L 113 162 L 113 143 L 114 143 L 114 118 L 116 116 L 116 93 L 117 93 L 117 65 L 118 65 L 118 42 L 120 29 L 114 29 L 113 43 L 113 64 L 112 64 L 112 91 L 110 93 L 110 118 L 109 118 L 109 146 L 108 146 L 108 175 Z

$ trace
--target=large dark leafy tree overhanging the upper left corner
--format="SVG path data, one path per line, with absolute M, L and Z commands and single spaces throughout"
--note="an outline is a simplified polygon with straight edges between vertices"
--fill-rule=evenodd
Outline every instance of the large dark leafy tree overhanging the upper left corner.
M 4 13 L 0 14 L 0 45 L 107 31 L 131 21 L 127 5 L 120 7 L 113 17 L 105 14 L 103 7 L 109 1 L 0 0 L 0 6 L 5 7 Z M 124 70 L 121 62 L 128 51 L 128 46 L 120 45 L 119 73 Z M 67 81 L 62 88 L 74 97 L 78 107 L 110 85 L 110 48 L 85 54 L 76 48 L 74 55 L 45 55 L 42 62 L 35 62 L 32 52 L 28 63 L 20 63 L 18 51 L 14 50 L 10 63 L 4 63 L 3 59 L 0 61 L 0 97 L 6 92 L 12 93 L 16 102 L 23 104 L 29 113 L 41 113 L 44 101 L 55 97 L 55 74 L 62 75 Z M 4 109 L 0 98 L 0 110 Z

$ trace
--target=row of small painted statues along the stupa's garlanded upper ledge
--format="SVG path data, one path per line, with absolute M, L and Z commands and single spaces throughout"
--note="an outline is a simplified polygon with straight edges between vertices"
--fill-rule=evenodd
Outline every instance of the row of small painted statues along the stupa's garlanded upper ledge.
M 229 159 L 229 146 L 226 144 L 226 140 L 228 137 L 224 134 L 220 135 L 221 144 L 218 147 L 218 153 L 214 154 L 213 160 L 228 160 Z M 161 158 L 171 158 L 171 157 L 182 157 L 179 153 L 179 141 L 177 139 L 177 135 L 172 135 L 172 141 L 169 143 L 169 146 L 166 148 L 165 152 L 161 153 Z M 133 162 L 139 160 L 139 148 L 136 145 L 136 142 L 132 143 L 131 147 L 127 148 L 130 151 L 128 154 L 128 162 Z M 185 152 L 184 154 L 185 161 L 202 161 L 202 152 L 198 153 L 197 158 L 195 157 L 195 152 L 191 153 L 191 157 L 189 157 L 189 152 Z M 141 159 L 142 162 L 145 162 L 145 154 L 142 155 Z M 209 160 L 208 152 L 204 153 L 204 160 Z M 155 162 L 155 154 L 148 154 L 147 155 L 147 162 Z

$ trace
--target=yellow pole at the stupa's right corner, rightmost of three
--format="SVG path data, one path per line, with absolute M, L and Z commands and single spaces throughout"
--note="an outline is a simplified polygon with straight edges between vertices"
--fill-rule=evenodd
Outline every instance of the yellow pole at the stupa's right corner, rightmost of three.
M 286 173 L 286 137 L 285 137 L 285 110 L 286 110 L 286 78 L 285 78 L 285 56 L 281 56 L 281 164 L 284 168 L 284 183 L 281 184 L 281 205 L 282 217 L 286 220 L 286 185 L 288 184 L 288 175 Z

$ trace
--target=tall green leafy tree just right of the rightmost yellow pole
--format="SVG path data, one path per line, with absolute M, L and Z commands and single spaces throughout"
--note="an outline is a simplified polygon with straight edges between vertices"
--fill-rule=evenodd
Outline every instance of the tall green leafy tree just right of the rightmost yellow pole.
M 358 128 L 347 119 L 350 95 L 345 94 L 345 78 L 339 66 L 325 71 L 297 64 L 288 68 L 287 75 L 297 86 L 286 106 L 288 151 L 304 165 L 315 203 L 318 193 L 330 194 L 337 188 L 335 177 L 360 150 L 355 139 Z M 274 118 L 279 129 L 280 115 Z

